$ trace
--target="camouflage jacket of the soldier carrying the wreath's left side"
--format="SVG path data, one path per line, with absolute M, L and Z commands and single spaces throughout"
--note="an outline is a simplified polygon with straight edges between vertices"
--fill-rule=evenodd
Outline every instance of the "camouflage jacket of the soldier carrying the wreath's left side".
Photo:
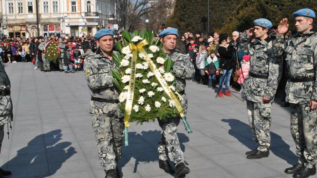
M 84 71 L 92 97 L 118 99 L 119 91 L 112 83 L 111 69 L 119 67 L 101 52 L 89 55 L 84 62 Z

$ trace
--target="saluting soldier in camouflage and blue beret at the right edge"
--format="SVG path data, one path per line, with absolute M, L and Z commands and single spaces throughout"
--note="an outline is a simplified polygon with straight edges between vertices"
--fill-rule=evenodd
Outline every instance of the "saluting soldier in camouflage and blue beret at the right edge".
M 296 145 L 298 163 L 286 168 L 285 173 L 294 178 L 308 178 L 316 174 L 316 120 L 317 120 L 317 32 L 313 31 L 315 12 L 300 9 L 293 13 L 297 32 L 292 32 L 284 42 L 288 31 L 284 18 L 278 27 L 279 55 L 286 54 L 288 78 L 285 101 L 291 103 L 291 134 Z

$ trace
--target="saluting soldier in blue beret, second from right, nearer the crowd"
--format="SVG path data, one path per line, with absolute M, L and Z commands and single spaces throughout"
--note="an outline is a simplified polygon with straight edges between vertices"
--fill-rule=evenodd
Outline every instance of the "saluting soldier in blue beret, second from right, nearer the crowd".
M 242 85 L 242 98 L 246 100 L 247 114 L 258 146 L 245 154 L 248 159 L 269 156 L 271 105 L 282 72 L 282 60 L 275 56 L 269 29 L 272 23 L 264 18 L 254 21 L 254 28 L 243 32 L 240 48 L 250 55 L 249 75 Z M 251 42 L 255 34 L 256 41 Z M 273 35 L 273 34 L 272 34 Z

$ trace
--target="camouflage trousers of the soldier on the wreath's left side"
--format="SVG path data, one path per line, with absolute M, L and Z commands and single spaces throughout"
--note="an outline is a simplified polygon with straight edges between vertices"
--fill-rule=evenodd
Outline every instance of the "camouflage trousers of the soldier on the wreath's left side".
M 121 158 L 124 136 L 123 118 L 118 118 L 117 104 L 91 101 L 93 130 L 101 166 L 105 171 L 115 169 Z

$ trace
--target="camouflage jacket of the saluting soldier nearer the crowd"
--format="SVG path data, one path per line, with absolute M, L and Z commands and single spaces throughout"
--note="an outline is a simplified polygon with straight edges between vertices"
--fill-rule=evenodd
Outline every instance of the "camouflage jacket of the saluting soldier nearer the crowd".
M 251 43 L 251 36 L 243 32 L 240 48 L 250 55 L 250 70 L 268 79 L 254 78 L 248 75 L 242 85 L 242 97 L 253 102 L 262 102 L 262 97 L 274 98 L 282 74 L 282 58 L 275 55 L 273 40 L 267 37 Z

